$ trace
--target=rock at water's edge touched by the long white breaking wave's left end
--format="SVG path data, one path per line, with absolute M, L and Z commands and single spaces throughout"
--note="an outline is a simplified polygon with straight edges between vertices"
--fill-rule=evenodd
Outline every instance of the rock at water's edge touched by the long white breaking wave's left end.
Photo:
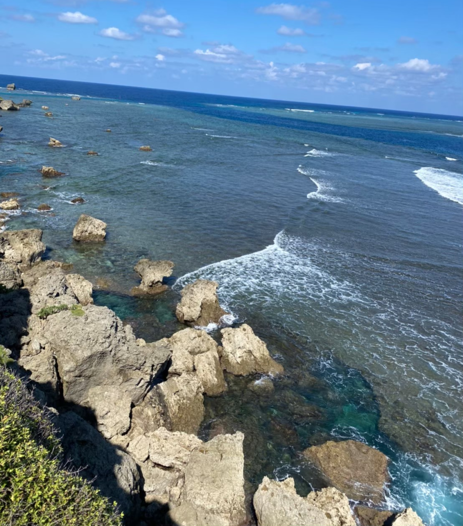
M 183 287 L 182 299 L 177 305 L 176 315 L 180 322 L 187 325 L 206 327 L 209 323 L 219 323 L 227 314 L 219 305 L 217 281 L 197 279 Z

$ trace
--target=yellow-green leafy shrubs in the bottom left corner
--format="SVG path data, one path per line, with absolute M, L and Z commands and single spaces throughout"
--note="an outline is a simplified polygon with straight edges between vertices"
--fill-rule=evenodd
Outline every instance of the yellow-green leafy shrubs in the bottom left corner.
M 0 367 L 2 526 L 121 525 L 116 503 L 63 467 L 61 454 L 47 410 L 22 380 Z

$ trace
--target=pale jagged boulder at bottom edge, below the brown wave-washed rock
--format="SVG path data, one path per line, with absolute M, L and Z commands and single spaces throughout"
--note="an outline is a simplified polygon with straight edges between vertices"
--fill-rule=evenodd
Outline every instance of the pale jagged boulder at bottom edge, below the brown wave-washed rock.
M 253 504 L 259 526 L 355 526 L 345 495 L 325 488 L 304 499 L 292 478 L 277 482 L 264 477 Z

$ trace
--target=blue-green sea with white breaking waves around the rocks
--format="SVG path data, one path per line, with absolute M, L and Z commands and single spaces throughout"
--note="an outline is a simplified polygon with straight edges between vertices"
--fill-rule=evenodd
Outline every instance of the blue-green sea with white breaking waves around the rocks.
M 383 508 L 461 526 L 463 117 L 10 82 L 0 96 L 33 105 L 1 112 L 0 190 L 22 205 L 5 227 L 43 229 L 45 257 L 149 341 L 181 328 L 184 285 L 217 280 L 230 322 L 284 366 L 271 393 L 228 376 L 205 399 L 202 438 L 245 433 L 249 492 L 264 475 L 323 487 L 302 451 L 354 439 L 390 458 Z M 107 222 L 104 244 L 73 242 L 82 213 Z M 142 257 L 175 263 L 163 295 L 130 296 Z

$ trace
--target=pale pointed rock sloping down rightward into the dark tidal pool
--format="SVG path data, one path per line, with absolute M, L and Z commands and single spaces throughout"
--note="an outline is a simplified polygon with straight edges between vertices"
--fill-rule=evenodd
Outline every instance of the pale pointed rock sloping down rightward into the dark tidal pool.
M 267 350 L 265 343 L 255 336 L 245 323 L 236 329 L 222 329 L 222 367 L 233 375 L 250 375 L 260 372 L 276 375 L 283 372 Z

